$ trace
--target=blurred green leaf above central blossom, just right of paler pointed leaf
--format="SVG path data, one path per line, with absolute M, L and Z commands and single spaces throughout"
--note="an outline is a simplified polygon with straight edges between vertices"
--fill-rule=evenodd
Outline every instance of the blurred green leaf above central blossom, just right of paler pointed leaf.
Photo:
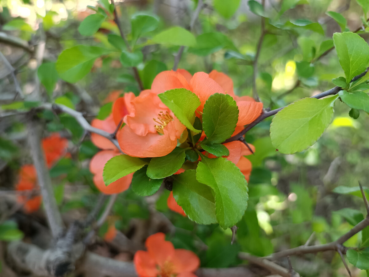
M 226 35 L 214 32 L 198 35 L 196 37 L 196 45 L 189 48 L 188 51 L 198 56 L 207 56 L 223 48 L 238 51 Z

